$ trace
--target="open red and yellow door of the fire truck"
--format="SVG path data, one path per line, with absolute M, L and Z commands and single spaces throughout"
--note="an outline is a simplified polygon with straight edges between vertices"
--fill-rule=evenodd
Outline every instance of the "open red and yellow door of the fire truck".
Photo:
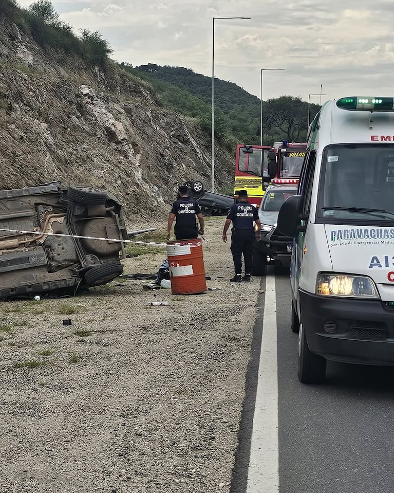
M 247 190 L 249 202 L 258 208 L 264 196 L 264 184 L 271 181 L 270 161 L 275 165 L 275 151 L 271 146 L 237 144 L 234 197 L 238 197 L 239 190 Z

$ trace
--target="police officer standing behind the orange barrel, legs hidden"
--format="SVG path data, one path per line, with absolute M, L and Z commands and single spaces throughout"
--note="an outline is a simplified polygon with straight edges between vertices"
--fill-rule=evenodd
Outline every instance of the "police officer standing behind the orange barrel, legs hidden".
M 168 216 L 167 240 L 170 240 L 171 228 L 176 218 L 174 227 L 175 238 L 177 240 L 189 240 L 197 238 L 198 234 L 204 234 L 204 216 L 201 208 L 194 198 L 189 197 L 189 190 L 186 186 L 179 187 L 178 200 L 174 202 Z M 196 224 L 196 216 L 200 223 L 200 229 Z

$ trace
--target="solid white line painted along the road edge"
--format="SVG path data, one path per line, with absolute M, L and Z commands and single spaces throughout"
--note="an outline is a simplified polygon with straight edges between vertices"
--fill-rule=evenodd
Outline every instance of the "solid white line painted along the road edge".
M 267 276 L 247 493 L 279 491 L 275 276 Z

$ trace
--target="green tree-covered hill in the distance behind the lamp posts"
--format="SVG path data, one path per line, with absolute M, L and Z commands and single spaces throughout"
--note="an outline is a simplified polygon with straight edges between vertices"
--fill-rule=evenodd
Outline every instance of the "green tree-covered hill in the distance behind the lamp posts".
M 151 82 L 164 106 L 197 118 L 211 134 L 212 79 L 184 67 L 153 63 L 133 68 L 120 64 L 135 76 Z M 311 119 L 318 105 L 310 105 Z M 305 141 L 308 103 L 300 98 L 281 96 L 263 102 L 263 144 L 288 139 Z M 260 141 L 260 100 L 232 82 L 215 79 L 215 137 L 234 149 L 236 143 L 258 144 Z

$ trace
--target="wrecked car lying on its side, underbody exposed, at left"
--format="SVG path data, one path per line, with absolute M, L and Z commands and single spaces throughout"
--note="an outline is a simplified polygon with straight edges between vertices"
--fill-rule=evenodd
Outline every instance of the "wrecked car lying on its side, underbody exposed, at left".
M 1 190 L 0 299 L 106 284 L 123 272 L 125 239 L 122 205 L 105 190 L 60 181 Z

